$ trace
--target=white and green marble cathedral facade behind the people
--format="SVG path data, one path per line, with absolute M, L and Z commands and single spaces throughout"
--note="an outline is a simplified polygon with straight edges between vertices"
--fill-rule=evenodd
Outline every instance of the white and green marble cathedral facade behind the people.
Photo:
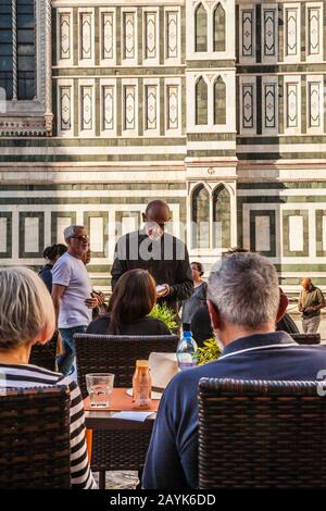
M 0 264 L 84 224 L 109 289 L 162 198 L 206 271 L 239 245 L 323 287 L 325 90 L 326 2 L 3 0 Z

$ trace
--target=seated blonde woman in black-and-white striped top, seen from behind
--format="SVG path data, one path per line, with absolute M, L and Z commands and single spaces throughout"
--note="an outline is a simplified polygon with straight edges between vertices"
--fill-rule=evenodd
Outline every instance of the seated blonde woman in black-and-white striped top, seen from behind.
M 68 376 L 28 364 L 33 345 L 46 344 L 54 327 L 51 296 L 36 273 L 24 267 L 0 270 L 0 389 L 53 385 L 70 388 L 71 484 L 76 489 L 93 489 L 97 486 L 88 464 L 84 407 L 77 384 Z

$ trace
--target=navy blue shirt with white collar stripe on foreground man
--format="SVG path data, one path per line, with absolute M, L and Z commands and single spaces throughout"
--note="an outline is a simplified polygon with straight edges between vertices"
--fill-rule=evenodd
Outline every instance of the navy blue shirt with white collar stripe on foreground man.
M 178 373 L 161 399 L 142 487 L 198 487 L 200 378 L 316 381 L 321 370 L 326 370 L 326 346 L 298 345 L 285 332 L 274 332 L 235 340 L 216 362 Z

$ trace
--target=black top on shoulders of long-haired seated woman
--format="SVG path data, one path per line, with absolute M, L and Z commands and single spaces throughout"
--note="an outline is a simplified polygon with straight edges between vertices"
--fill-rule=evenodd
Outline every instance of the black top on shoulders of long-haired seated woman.
M 110 316 L 100 316 L 92 321 L 86 331 L 87 334 L 110 335 Z M 121 327 L 120 335 L 171 335 L 163 321 L 156 317 L 141 317 Z

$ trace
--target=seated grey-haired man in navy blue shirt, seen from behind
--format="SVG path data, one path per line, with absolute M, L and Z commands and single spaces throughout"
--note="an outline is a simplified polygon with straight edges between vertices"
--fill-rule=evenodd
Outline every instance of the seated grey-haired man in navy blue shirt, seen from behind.
M 266 258 L 248 252 L 222 260 L 211 273 L 208 300 L 222 357 L 178 373 L 166 387 L 143 470 L 146 489 L 198 487 L 200 378 L 315 381 L 326 367 L 325 346 L 300 346 L 275 332 L 287 300 L 280 300 Z

